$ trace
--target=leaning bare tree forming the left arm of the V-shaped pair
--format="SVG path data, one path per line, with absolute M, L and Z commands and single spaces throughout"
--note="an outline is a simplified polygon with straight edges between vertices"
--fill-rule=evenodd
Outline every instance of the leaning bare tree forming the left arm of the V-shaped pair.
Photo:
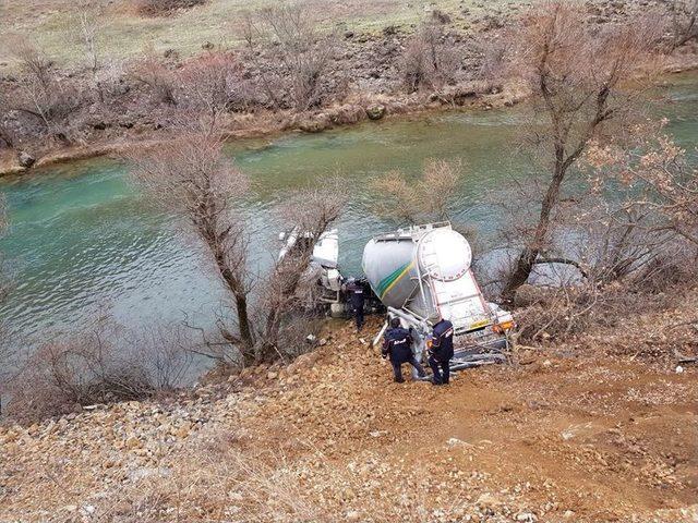
M 224 158 L 215 120 L 194 120 L 169 142 L 147 151 L 136 150 L 129 160 L 151 199 L 186 219 L 208 251 L 237 318 L 234 331 L 221 327 L 221 333 L 249 364 L 255 360 L 255 331 L 249 313 L 249 236 L 233 205 L 248 184 Z

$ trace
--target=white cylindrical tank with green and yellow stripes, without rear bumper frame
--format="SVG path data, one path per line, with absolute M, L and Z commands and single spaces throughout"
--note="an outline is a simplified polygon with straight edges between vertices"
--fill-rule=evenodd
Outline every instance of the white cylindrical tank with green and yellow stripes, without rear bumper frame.
M 449 317 L 456 329 L 491 317 L 471 262 L 470 244 L 449 223 L 400 229 L 363 250 L 363 271 L 384 305 L 432 324 Z

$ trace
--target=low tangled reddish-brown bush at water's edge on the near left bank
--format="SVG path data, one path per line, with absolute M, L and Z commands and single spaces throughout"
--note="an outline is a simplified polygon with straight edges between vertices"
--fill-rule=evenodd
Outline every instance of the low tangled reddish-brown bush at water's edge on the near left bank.
M 119 344 L 115 340 L 121 340 Z M 41 345 L 9 380 L 8 416 L 23 423 L 81 405 L 141 400 L 184 382 L 190 353 L 177 329 L 123 335 L 104 320 Z

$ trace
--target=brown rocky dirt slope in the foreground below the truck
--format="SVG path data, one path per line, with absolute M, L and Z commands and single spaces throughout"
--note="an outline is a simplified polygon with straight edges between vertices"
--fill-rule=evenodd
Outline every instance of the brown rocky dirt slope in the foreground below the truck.
M 398 385 L 377 328 L 335 325 L 288 367 L 181 398 L 0 428 L 0 521 L 698 518 L 695 367 L 606 332 Z

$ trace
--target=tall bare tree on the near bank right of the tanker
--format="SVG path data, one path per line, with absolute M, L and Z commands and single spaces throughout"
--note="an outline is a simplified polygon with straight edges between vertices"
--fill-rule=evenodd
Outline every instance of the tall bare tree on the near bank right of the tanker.
M 563 183 L 590 141 L 607 132 L 623 134 L 633 121 L 638 90 L 628 89 L 638 70 L 648 64 L 654 33 L 645 26 L 591 31 L 580 8 L 546 2 L 524 20 L 512 41 L 516 74 L 524 76 L 540 102 L 545 118 L 537 133 L 527 129 L 531 145 L 541 148 L 549 179 L 539 200 L 539 212 L 530 233 L 519 241 L 519 251 L 503 289 L 505 301 L 527 282 L 551 238 L 551 222 Z

